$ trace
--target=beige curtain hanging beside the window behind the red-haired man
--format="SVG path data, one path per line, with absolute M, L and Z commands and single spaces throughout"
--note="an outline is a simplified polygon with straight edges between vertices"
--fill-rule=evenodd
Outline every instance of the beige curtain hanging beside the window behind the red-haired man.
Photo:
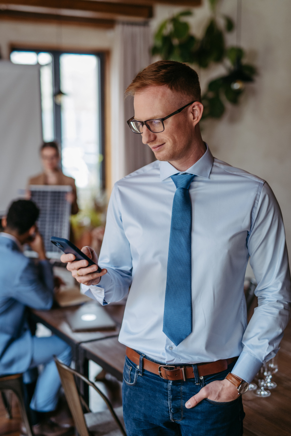
M 155 160 L 140 135 L 130 131 L 126 121 L 134 115 L 133 99 L 124 92 L 136 74 L 150 64 L 148 23 L 119 23 L 116 26 L 113 60 L 113 183 Z

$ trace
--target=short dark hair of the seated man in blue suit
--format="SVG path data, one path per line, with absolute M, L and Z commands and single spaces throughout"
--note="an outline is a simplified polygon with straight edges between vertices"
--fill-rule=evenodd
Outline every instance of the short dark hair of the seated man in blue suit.
M 19 235 L 27 232 L 37 221 L 39 209 L 31 200 L 12 202 L 7 214 L 7 227 Z

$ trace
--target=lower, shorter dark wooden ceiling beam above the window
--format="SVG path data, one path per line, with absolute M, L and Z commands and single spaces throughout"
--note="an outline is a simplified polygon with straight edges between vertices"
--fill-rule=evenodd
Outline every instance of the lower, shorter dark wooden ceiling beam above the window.
M 60 23 L 60 24 L 73 24 L 80 26 L 94 26 L 102 27 L 105 29 L 112 29 L 115 25 L 115 20 L 106 18 L 87 18 L 83 16 L 67 16 L 58 14 L 40 14 L 37 12 L 24 12 L 15 10 L 0 10 L 0 20 L 21 20 L 32 22 L 45 22 L 45 23 Z

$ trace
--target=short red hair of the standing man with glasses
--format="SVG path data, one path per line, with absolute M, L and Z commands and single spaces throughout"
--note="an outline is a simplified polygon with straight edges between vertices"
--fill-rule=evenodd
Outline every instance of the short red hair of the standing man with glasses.
M 186 63 L 158 61 L 151 63 L 132 80 L 125 94 L 134 95 L 147 86 L 166 85 L 171 90 L 201 102 L 201 89 L 198 74 Z

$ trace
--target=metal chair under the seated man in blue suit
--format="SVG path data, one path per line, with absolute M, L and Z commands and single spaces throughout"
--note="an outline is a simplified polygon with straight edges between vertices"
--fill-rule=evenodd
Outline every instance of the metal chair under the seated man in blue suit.
M 0 391 L 2 395 L 2 400 L 4 402 L 4 406 L 8 413 L 9 418 L 12 418 L 11 415 L 11 405 L 7 401 L 7 397 L 3 391 L 12 390 L 16 397 L 18 398 L 20 413 L 22 421 L 26 427 L 27 435 L 33 436 L 32 428 L 28 419 L 27 410 L 24 401 L 24 390 L 23 390 L 23 382 L 22 382 L 22 374 L 12 374 L 12 375 L 3 375 L 0 376 Z

